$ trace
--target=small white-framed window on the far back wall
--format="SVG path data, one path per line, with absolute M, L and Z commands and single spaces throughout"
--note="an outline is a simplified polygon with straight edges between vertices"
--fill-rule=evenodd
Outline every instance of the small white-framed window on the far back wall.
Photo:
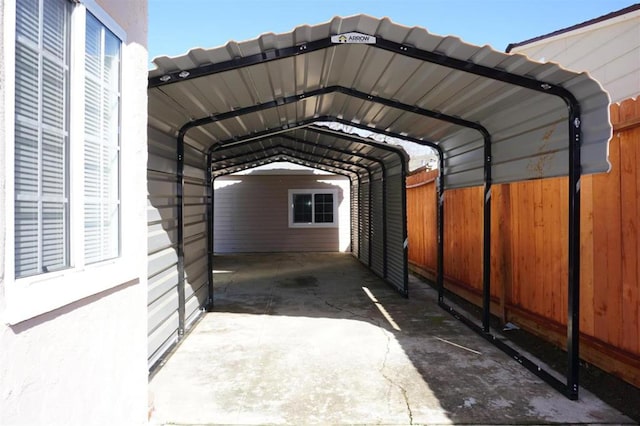
M 290 189 L 289 227 L 337 227 L 337 196 L 333 189 Z

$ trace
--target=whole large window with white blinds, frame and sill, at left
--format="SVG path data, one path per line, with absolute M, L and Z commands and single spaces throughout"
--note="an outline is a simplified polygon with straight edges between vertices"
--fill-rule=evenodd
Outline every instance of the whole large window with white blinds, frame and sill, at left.
M 20 301 L 8 306 L 15 321 L 122 284 L 131 272 L 121 267 L 125 32 L 94 0 L 9 4 L 14 226 L 6 266 L 15 278 L 7 296 Z

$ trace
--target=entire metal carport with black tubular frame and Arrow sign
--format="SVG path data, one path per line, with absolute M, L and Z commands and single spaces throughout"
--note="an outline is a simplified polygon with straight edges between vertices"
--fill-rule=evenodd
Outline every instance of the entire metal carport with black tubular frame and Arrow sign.
M 608 170 L 611 136 L 609 99 L 596 81 L 364 15 L 154 63 L 150 364 L 212 303 L 211 179 L 260 161 L 294 158 L 350 176 L 354 254 L 406 294 L 406 158 L 320 125 L 336 121 L 438 151 L 439 302 L 458 317 L 444 300 L 443 191 L 484 186 L 482 324 L 461 318 L 577 398 L 580 175 Z M 566 384 L 489 329 L 491 185 L 552 176 L 569 176 Z

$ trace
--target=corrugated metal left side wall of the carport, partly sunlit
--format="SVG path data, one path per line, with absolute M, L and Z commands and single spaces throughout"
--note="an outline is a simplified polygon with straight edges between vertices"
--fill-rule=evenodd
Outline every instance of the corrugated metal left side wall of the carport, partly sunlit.
M 178 196 L 176 139 L 148 130 L 148 366 L 177 342 L 180 309 L 188 329 L 207 301 L 206 156 L 185 148 L 184 191 Z M 178 211 L 184 212 L 184 303 L 179 291 Z

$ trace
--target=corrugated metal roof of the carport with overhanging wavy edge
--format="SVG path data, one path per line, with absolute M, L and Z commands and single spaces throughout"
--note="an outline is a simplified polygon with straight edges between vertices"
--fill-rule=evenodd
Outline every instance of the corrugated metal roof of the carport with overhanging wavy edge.
M 447 188 L 484 182 L 488 138 L 493 182 L 564 176 L 575 97 L 582 172 L 609 170 L 609 98 L 586 73 L 386 18 L 336 17 L 154 63 L 150 126 L 203 151 L 338 119 L 437 144 Z

